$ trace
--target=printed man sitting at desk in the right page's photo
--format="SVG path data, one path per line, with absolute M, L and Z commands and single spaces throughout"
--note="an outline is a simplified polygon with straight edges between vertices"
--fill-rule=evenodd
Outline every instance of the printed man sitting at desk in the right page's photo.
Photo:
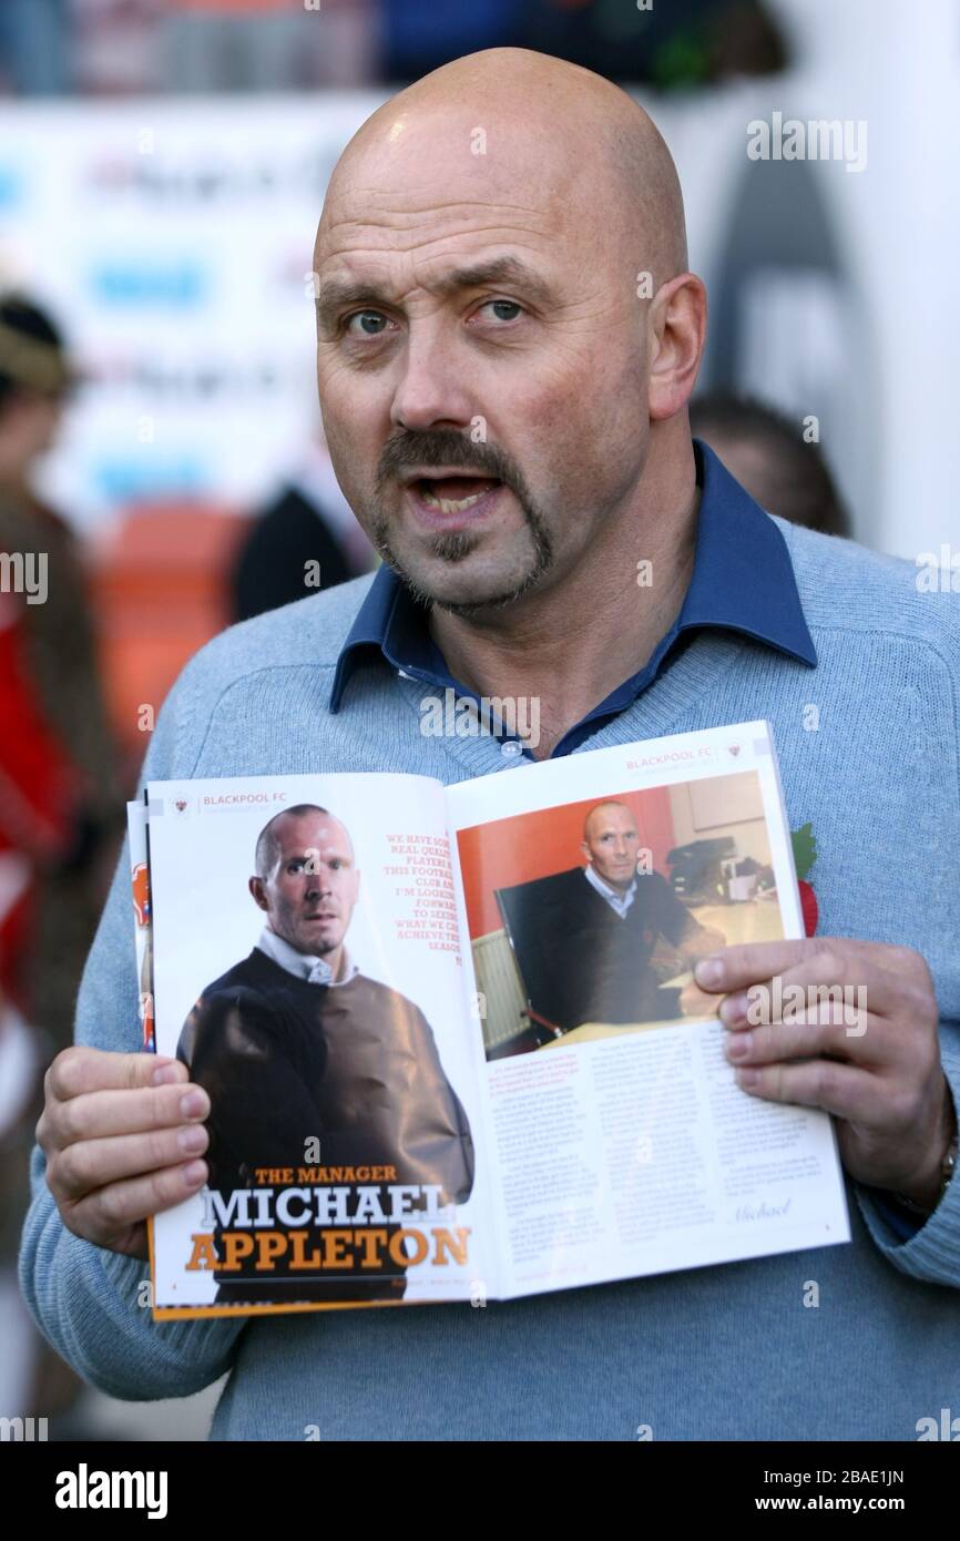
M 661 988 L 661 979 L 693 968 L 726 937 L 701 926 L 660 872 L 639 868 L 630 807 L 596 803 L 579 849 L 586 865 L 498 891 L 532 1020 L 504 1054 L 539 1048 L 586 1022 L 630 1026 L 717 1009 L 717 997 L 693 983 Z M 655 963 L 658 948 L 670 959 L 667 972 Z

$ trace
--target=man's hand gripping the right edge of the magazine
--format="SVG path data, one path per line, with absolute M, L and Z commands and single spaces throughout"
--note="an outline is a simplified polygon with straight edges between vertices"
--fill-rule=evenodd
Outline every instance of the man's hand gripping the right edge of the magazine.
M 955 1113 L 918 952 L 840 937 L 760 942 L 704 959 L 695 979 L 726 995 L 724 1046 L 744 1091 L 835 1114 L 852 1177 L 935 1208 Z M 789 986 L 803 989 L 798 1008 Z

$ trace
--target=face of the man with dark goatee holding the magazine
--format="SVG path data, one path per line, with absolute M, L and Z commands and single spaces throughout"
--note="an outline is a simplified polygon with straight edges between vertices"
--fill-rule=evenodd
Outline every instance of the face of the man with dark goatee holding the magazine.
M 649 431 L 643 253 L 590 146 L 516 122 L 476 153 L 472 123 L 401 112 L 371 137 L 314 256 L 341 487 L 415 592 L 461 613 L 572 572 Z

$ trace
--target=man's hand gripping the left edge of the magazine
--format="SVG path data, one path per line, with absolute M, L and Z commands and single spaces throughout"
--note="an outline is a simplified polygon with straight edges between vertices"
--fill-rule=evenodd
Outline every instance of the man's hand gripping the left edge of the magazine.
M 146 1216 L 206 1180 L 210 1097 L 157 1054 L 69 1048 L 45 1079 L 37 1143 L 60 1217 L 97 1247 L 146 1257 Z

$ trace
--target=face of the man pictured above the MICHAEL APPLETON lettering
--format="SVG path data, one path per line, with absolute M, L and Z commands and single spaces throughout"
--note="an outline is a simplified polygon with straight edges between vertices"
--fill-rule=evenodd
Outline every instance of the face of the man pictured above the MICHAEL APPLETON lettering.
M 253 897 L 291 948 L 324 957 L 342 943 L 356 905 L 350 837 L 324 814 L 280 818 L 274 837 L 274 861 L 265 878 L 251 878 Z

